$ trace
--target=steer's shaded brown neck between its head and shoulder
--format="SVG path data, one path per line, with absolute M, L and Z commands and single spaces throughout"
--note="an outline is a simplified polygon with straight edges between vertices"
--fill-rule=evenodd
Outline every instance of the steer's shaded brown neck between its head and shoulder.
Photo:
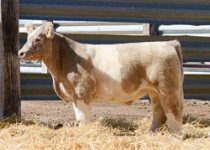
M 49 72 L 57 80 L 62 80 L 69 72 L 76 70 L 77 64 L 85 64 L 86 56 L 82 44 L 56 33 L 52 39 L 52 50 L 48 59 L 43 60 Z M 88 59 L 88 58 L 87 58 Z

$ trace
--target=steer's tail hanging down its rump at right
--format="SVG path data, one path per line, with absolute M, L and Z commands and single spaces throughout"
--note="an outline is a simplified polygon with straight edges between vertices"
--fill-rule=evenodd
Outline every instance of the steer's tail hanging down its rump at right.
M 179 61 L 180 61 L 180 65 L 181 65 L 180 67 L 181 67 L 181 74 L 182 74 L 182 83 L 183 83 L 183 81 L 184 81 L 184 71 L 183 71 L 183 56 L 182 56 L 181 44 L 178 40 L 170 41 L 170 44 L 175 47 L 177 55 L 179 57 Z

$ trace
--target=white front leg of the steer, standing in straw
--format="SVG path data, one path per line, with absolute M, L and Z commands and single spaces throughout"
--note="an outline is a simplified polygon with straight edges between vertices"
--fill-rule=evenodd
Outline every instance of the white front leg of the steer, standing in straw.
M 77 121 L 84 123 L 90 120 L 90 104 L 83 100 L 77 100 L 73 102 L 73 107 Z

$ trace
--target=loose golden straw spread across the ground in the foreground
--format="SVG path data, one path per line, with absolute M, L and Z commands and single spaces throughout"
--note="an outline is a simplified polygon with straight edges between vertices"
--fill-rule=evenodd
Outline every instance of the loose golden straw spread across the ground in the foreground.
M 149 133 L 150 124 L 148 118 L 134 122 L 99 119 L 79 127 L 66 124 L 58 129 L 26 122 L 7 124 L 0 129 L 0 150 L 210 149 L 210 126 L 186 123 L 181 133 L 171 134 L 166 127 Z

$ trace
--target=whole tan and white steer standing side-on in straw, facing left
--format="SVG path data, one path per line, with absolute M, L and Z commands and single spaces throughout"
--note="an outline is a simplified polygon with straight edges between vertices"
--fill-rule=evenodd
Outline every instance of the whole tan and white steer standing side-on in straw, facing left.
M 73 103 L 76 119 L 87 121 L 92 102 L 131 104 L 148 95 L 156 131 L 167 120 L 182 125 L 182 51 L 177 40 L 125 44 L 83 44 L 54 32 L 53 24 L 26 25 L 28 38 L 18 51 L 24 60 L 42 60 L 56 94 Z

